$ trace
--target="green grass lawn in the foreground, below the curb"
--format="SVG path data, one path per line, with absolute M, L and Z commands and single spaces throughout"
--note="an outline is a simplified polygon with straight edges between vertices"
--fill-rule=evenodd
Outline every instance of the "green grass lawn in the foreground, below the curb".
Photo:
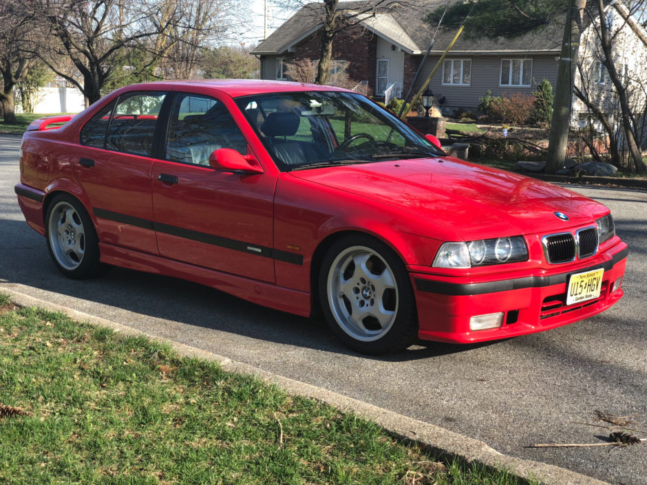
M 0 483 L 522 484 L 147 338 L 0 295 Z

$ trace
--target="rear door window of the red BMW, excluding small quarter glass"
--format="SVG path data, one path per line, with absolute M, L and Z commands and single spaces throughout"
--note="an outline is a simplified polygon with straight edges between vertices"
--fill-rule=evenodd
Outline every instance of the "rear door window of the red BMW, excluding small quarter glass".
M 153 134 L 166 93 L 132 92 L 120 96 L 108 128 L 105 147 L 133 155 L 153 155 Z

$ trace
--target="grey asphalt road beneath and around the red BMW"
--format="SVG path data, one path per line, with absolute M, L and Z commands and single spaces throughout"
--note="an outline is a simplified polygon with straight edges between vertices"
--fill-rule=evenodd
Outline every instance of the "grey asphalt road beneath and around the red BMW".
M 614 484 L 647 484 L 647 444 L 593 443 L 595 411 L 633 416 L 647 437 L 647 192 L 571 186 L 611 207 L 629 244 L 625 297 L 586 321 L 487 345 L 429 343 L 385 358 L 349 352 L 322 321 L 177 279 L 114 268 L 65 279 L 23 219 L 13 186 L 19 138 L 0 136 L 0 290 L 14 288 L 482 440 L 508 455 Z M 586 424 L 588 423 L 588 424 Z

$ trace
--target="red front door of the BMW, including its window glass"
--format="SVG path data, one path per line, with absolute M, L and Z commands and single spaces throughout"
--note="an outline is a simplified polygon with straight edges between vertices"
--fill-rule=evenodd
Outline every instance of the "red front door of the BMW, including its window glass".
M 274 283 L 276 176 L 216 171 L 209 155 L 219 148 L 251 150 L 221 100 L 176 94 L 165 160 L 151 174 L 160 255 Z

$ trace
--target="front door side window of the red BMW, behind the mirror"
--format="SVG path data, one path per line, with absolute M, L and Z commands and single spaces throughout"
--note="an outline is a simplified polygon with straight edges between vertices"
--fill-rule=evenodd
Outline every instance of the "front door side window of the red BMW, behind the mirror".
M 208 166 L 209 156 L 220 148 L 247 153 L 247 142 L 222 101 L 178 93 L 169 120 L 167 160 Z

